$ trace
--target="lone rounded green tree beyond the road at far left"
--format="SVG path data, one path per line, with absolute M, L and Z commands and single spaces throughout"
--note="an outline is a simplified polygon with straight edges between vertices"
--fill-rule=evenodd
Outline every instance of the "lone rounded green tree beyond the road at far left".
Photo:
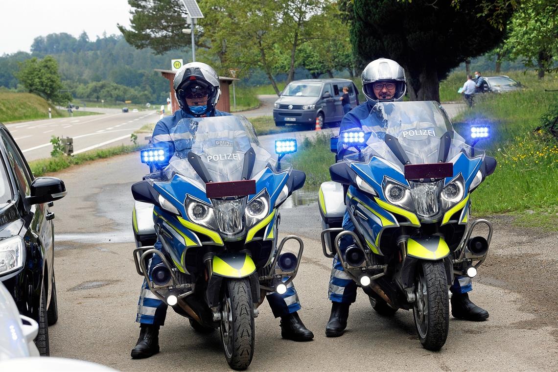
M 64 86 L 60 81 L 58 62 L 52 56 L 46 56 L 42 60 L 33 57 L 20 62 L 20 70 L 16 77 L 29 93 L 40 95 L 56 104 L 71 101 L 71 94 L 62 91 Z

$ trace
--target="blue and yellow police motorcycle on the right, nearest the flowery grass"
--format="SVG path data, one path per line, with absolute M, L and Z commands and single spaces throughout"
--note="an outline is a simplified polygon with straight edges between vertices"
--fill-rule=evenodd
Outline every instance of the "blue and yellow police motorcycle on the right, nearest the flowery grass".
M 432 101 L 378 103 L 362 129 L 331 139 L 333 152 L 341 141 L 354 153 L 330 167 L 332 181 L 319 190 L 324 255 L 338 255 L 381 315 L 412 308 L 428 350 L 448 336 L 454 274 L 474 277 L 487 256 L 492 225 L 470 220 L 470 195 L 496 168 L 474 148 L 488 136 L 489 127 L 472 127 L 469 146 Z M 341 227 L 345 210 L 354 232 Z M 479 225 L 486 238 L 473 234 Z M 344 235 L 354 244 L 341 254 Z

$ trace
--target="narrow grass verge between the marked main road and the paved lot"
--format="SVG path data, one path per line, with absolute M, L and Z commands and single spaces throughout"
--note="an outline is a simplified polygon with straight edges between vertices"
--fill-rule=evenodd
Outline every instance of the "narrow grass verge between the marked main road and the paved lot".
M 31 171 L 35 177 L 40 177 L 46 173 L 59 172 L 74 165 L 82 165 L 86 162 L 97 159 L 109 158 L 116 155 L 127 154 L 138 151 L 142 148 L 139 145 L 117 146 L 111 148 L 97 149 L 75 156 L 57 156 L 48 159 L 33 160 L 29 162 Z

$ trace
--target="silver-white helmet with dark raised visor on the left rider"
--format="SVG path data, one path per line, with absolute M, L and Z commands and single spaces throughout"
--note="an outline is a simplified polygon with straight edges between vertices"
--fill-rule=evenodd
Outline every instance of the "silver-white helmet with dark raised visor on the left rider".
M 202 62 L 191 62 L 182 66 L 176 73 L 172 85 L 180 108 L 198 118 L 213 112 L 221 95 L 219 76 L 213 67 Z M 205 101 L 205 96 L 205 104 L 188 105 L 188 100 L 195 102 L 195 99 L 204 98 Z

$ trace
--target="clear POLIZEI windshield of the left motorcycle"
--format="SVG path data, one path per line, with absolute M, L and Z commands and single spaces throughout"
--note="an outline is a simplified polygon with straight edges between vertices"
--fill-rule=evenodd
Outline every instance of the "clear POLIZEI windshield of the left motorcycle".
M 204 185 L 209 180 L 249 180 L 267 166 L 274 172 L 277 169 L 276 161 L 261 146 L 252 124 L 243 116 L 184 118 L 172 128 L 170 137 L 169 148 L 174 154 L 169 166 L 148 176 L 152 180 L 171 180 L 178 173 Z M 248 151 L 254 152 L 253 166 L 251 161 L 245 162 L 245 157 L 250 156 Z M 198 160 L 193 162 L 193 155 Z M 290 170 L 290 165 L 281 162 L 281 168 Z

